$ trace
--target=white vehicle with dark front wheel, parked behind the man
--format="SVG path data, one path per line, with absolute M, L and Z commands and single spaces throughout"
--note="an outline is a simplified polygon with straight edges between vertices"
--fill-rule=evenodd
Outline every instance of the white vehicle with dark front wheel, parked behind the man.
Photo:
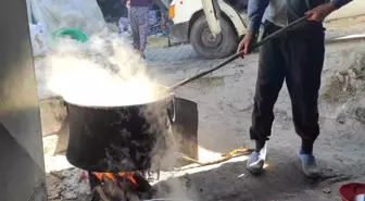
M 171 42 L 190 42 L 196 52 L 205 59 L 224 58 L 232 53 L 238 39 L 246 33 L 248 0 L 215 2 L 173 0 L 168 10 L 169 18 L 174 22 L 169 27 Z M 216 23 L 217 18 L 219 23 Z

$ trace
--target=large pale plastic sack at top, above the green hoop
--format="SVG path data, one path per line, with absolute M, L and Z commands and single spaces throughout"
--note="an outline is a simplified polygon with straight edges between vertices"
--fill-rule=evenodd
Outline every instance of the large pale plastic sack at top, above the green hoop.
M 36 22 L 53 33 L 59 28 L 78 28 L 87 35 L 100 32 L 105 25 L 96 0 L 30 0 Z

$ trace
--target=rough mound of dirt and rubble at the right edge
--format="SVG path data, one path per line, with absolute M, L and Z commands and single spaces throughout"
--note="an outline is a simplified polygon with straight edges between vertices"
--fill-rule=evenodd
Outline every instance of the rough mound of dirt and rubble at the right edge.
M 342 50 L 323 84 L 320 104 L 332 118 L 365 124 L 365 45 Z

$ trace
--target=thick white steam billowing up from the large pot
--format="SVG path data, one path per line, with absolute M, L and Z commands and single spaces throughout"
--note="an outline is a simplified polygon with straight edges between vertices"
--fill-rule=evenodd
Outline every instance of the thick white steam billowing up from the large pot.
M 119 106 L 164 98 L 162 86 L 146 73 L 146 64 L 117 35 L 91 37 L 78 43 L 63 39 L 48 58 L 48 87 L 67 102 L 88 106 Z

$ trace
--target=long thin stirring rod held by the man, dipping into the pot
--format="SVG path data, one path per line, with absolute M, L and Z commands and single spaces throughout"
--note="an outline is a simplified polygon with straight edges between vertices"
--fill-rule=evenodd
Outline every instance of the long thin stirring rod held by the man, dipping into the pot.
M 295 27 L 297 25 L 299 25 L 299 24 L 305 22 L 306 18 L 307 18 L 306 16 L 303 16 L 303 17 L 301 17 L 301 18 L 299 18 L 299 20 L 292 22 L 292 23 L 289 24 L 288 26 L 286 26 L 286 27 L 284 27 L 284 28 L 277 30 L 277 32 L 273 33 L 272 35 L 265 37 L 264 39 L 262 39 L 262 40 L 260 40 L 259 42 L 256 42 L 255 45 L 253 45 L 253 46 L 251 47 L 251 50 L 254 50 L 254 49 L 259 48 L 260 46 L 266 43 L 267 41 L 272 40 L 273 38 L 278 37 L 278 36 L 282 35 L 284 33 L 286 33 L 286 32 L 292 29 L 292 28 Z M 207 75 L 207 74 L 210 74 L 210 73 L 212 73 L 212 72 L 214 72 L 214 71 L 216 71 L 216 70 L 218 70 L 218 68 L 221 68 L 221 67 L 223 67 L 223 66 L 225 66 L 225 65 L 227 65 L 228 63 L 230 63 L 230 62 L 237 60 L 238 58 L 242 56 L 243 54 L 244 54 L 243 51 L 240 51 L 240 52 L 238 52 L 238 53 L 236 53 L 236 54 L 234 54 L 234 55 L 227 58 L 225 61 L 223 61 L 222 63 L 219 63 L 219 64 L 216 65 L 215 67 L 212 67 L 211 70 L 207 70 L 207 71 L 205 71 L 205 72 L 202 72 L 202 73 L 200 73 L 200 74 L 197 74 L 197 75 L 194 75 L 194 76 L 192 76 L 192 77 L 190 77 L 190 78 L 184 79 L 184 80 L 181 80 L 181 81 L 179 81 L 179 83 L 173 85 L 172 87 L 169 87 L 168 89 L 166 89 L 166 92 L 174 91 L 175 89 L 177 89 L 177 88 L 179 88 L 179 87 L 181 87 L 181 86 L 184 86 L 184 85 L 186 85 L 186 84 L 188 84 L 188 83 L 190 83 L 190 81 L 192 81 L 192 80 L 196 80 L 196 79 L 198 79 L 198 78 L 200 78 L 200 77 L 202 77 L 202 76 L 204 76 L 204 75 Z

